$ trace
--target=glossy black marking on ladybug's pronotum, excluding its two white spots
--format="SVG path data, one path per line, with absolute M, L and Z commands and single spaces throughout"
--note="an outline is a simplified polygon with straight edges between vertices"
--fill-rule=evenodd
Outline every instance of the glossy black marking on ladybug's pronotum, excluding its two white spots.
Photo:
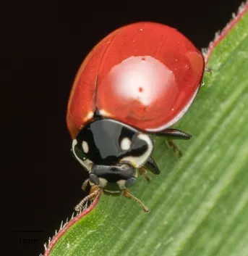
M 95 120 L 85 125 L 77 135 L 75 153 L 80 159 L 84 157 L 95 165 L 117 164 L 124 157 L 140 157 L 147 152 L 147 142 L 139 139 L 140 131 L 111 119 Z M 121 139 L 131 141 L 129 149 L 123 150 Z M 87 141 L 89 152 L 82 150 L 82 141 Z

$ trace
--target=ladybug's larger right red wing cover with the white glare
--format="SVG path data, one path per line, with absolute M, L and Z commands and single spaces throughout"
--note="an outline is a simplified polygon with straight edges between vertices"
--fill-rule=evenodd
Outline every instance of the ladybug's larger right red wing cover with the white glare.
M 174 28 L 121 28 L 101 59 L 95 106 L 103 116 L 160 131 L 186 112 L 202 80 L 200 51 Z

